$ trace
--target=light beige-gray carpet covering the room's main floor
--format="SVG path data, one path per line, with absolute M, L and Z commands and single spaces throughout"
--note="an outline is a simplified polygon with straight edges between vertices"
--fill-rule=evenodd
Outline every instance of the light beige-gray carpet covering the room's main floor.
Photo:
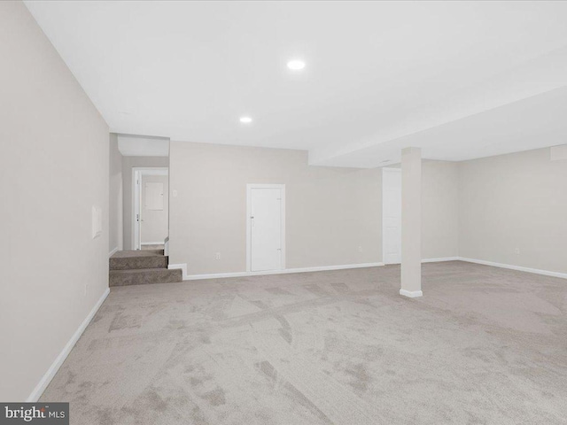
M 72 424 L 559 424 L 567 282 L 462 262 L 113 288 L 43 394 Z

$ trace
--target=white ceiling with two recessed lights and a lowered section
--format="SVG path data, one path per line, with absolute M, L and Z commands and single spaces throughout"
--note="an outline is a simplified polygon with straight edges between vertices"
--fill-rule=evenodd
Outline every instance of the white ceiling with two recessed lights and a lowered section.
M 26 4 L 113 132 L 365 167 L 567 143 L 567 2 Z

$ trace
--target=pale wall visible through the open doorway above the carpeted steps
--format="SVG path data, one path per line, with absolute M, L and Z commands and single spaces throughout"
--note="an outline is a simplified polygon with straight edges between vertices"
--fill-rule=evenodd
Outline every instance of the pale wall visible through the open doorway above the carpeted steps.
M 149 210 L 145 208 L 144 192 L 142 205 L 142 243 L 164 243 L 169 232 L 169 176 L 167 175 L 143 175 L 142 188 L 145 183 L 163 184 L 163 210 Z

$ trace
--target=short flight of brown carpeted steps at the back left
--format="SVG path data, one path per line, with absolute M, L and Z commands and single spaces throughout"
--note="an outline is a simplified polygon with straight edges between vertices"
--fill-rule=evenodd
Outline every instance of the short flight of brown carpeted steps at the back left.
M 182 282 L 181 269 L 167 269 L 163 250 L 118 251 L 110 258 L 110 286 Z

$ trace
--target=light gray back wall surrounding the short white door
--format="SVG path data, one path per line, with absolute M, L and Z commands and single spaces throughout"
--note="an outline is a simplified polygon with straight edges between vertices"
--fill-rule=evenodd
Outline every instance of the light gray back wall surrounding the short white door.
M 169 176 L 178 192 L 170 263 L 187 263 L 188 274 L 246 270 L 247 183 L 286 185 L 286 267 L 382 261 L 379 169 L 308 166 L 307 151 L 171 142 Z

